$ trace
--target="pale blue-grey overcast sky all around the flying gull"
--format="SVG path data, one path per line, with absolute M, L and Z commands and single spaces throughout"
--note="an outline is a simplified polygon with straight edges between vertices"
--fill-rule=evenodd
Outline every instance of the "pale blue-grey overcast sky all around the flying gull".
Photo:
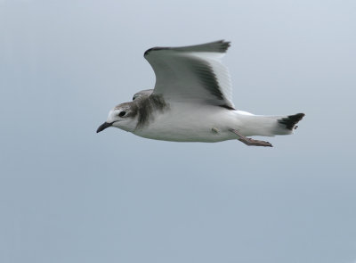
M 95 133 L 146 49 L 218 39 L 237 108 L 295 135 Z M 0 261 L 354 263 L 355 47 L 355 1 L 0 0 Z

